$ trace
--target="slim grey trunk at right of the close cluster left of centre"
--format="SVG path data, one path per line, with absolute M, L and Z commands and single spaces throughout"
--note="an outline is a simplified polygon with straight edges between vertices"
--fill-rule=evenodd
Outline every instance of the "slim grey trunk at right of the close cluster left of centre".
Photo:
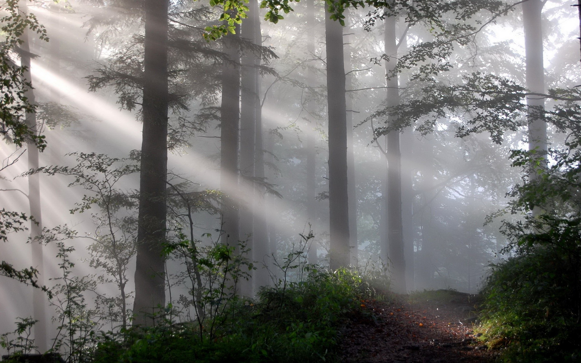
M 262 32 L 260 30 L 260 16 L 257 0 L 250 0 L 249 19 L 254 24 L 254 44 L 262 45 Z M 264 133 L 262 127 L 262 106 L 260 103 L 260 56 L 254 55 L 254 177 L 264 179 Z M 269 181 L 270 182 L 270 181 Z M 270 285 L 270 277 L 267 267 L 271 264 L 270 244 L 268 243 L 266 211 L 266 191 L 262 187 L 254 189 L 254 260 L 258 261 L 254 274 L 254 291 L 258 287 Z

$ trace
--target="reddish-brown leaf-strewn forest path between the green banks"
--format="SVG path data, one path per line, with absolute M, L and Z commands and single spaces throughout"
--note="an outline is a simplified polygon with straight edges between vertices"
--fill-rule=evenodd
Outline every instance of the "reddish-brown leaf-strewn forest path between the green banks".
M 498 351 L 479 343 L 472 326 L 479 296 L 438 290 L 432 296 L 362 301 L 364 312 L 342 330 L 344 363 L 489 363 Z M 436 298 L 434 298 L 436 296 Z M 426 299 L 428 297 L 428 299 Z M 368 312 L 366 314 L 365 312 Z

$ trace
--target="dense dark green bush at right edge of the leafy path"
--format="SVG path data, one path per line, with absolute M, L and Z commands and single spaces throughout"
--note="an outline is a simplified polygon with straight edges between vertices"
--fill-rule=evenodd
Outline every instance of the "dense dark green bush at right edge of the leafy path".
M 579 223 L 541 217 L 514 257 L 492 265 L 481 328 L 505 362 L 581 359 Z

